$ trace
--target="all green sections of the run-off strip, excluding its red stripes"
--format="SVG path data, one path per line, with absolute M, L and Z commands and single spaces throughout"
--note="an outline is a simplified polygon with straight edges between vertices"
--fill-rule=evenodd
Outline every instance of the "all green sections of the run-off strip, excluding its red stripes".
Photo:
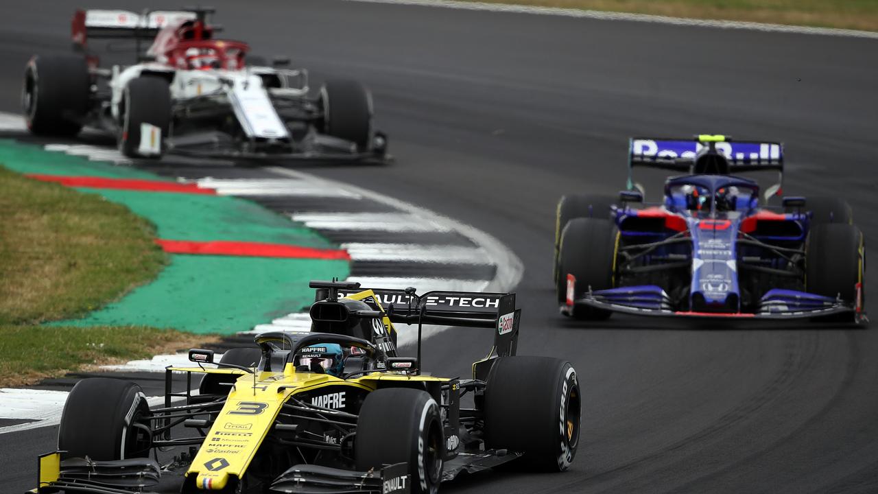
M 91 162 L 40 147 L 0 140 L 0 163 L 20 173 L 159 180 L 124 165 Z M 77 188 L 125 205 L 156 226 L 159 238 L 245 241 L 334 248 L 303 225 L 233 197 Z M 307 307 L 309 280 L 345 279 L 348 261 L 173 255 L 155 280 L 81 319 L 54 325 L 143 325 L 233 334 Z

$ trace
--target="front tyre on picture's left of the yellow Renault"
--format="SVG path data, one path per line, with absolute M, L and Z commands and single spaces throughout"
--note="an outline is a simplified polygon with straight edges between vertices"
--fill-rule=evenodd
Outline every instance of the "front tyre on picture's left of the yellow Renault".
M 146 457 L 152 443 L 147 398 L 131 381 L 96 377 L 76 383 L 58 429 L 62 458 L 112 461 Z

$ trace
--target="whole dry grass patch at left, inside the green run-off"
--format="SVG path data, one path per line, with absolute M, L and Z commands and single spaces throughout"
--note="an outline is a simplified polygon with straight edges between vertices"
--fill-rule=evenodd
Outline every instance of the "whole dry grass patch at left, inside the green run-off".
M 213 337 L 145 327 L 46 327 L 155 278 L 155 229 L 97 194 L 0 167 L 0 387 L 142 359 Z

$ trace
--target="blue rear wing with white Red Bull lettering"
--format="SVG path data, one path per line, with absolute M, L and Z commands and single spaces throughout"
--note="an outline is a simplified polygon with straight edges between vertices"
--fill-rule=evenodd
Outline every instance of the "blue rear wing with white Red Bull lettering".
M 689 139 L 632 137 L 628 152 L 628 190 L 642 189 L 634 182 L 636 166 L 694 173 L 695 156 L 708 146 L 725 156 L 731 173 L 778 171 L 778 183 L 766 190 L 766 198 L 780 193 L 783 185 L 781 142 L 733 141 L 726 135 L 709 134 Z

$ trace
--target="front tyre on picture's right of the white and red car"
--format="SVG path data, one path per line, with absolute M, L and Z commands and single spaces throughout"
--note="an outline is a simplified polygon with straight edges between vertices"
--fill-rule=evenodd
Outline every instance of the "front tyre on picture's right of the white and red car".
M 356 81 L 327 81 L 320 88 L 323 133 L 354 142 L 358 152 L 371 149 L 372 95 Z

